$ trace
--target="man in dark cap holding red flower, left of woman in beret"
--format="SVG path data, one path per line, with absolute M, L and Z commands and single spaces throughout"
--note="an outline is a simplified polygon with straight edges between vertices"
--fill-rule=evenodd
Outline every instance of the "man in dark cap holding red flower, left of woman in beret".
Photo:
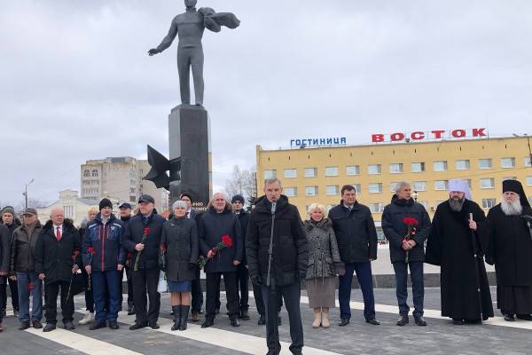
M 148 326 L 158 329 L 160 233 L 166 219 L 157 214 L 155 200 L 148 194 L 138 198 L 138 206 L 140 211 L 129 220 L 122 242 L 124 248 L 131 253 L 133 295 L 137 314 L 137 322 L 129 329 L 136 330 Z M 150 308 L 147 312 L 146 289 L 150 298 Z

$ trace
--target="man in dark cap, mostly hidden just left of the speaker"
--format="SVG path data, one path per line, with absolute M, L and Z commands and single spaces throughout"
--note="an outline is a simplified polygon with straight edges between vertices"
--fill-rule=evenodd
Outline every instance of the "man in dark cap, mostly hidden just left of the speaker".
M 249 271 L 246 259 L 246 233 L 249 223 L 249 213 L 244 209 L 246 200 L 241 194 L 236 194 L 231 199 L 233 212 L 239 217 L 240 228 L 242 229 L 242 262 L 237 266 L 237 281 L 240 297 L 240 319 L 248 320 L 249 313 Z

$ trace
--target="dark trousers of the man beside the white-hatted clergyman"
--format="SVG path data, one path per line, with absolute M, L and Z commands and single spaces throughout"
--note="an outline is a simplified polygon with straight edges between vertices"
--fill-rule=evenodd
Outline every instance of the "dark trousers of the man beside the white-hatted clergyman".
M 395 271 L 395 294 L 399 304 L 399 314 L 405 316 L 410 312 L 410 307 L 406 303 L 408 291 L 406 282 L 408 277 L 407 264 L 403 261 L 393 263 Z M 423 285 L 423 262 L 411 261 L 408 263 L 411 271 L 412 299 L 414 301 L 414 318 L 423 316 L 423 299 L 425 297 L 425 286 Z

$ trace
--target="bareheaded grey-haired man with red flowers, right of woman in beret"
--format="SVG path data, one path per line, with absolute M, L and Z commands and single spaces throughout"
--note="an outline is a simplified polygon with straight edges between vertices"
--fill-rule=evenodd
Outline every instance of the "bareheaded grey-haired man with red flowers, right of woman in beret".
M 220 294 L 220 280 L 223 275 L 227 308 L 232 327 L 239 327 L 239 288 L 237 266 L 242 261 L 243 242 L 239 218 L 231 213 L 231 203 L 223 193 L 215 193 L 208 204 L 208 210 L 200 218 L 198 237 L 201 254 L 207 256 L 207 316 L 201 327 L 211 327 L 216 315 L 216 297 Z M 230 238 L 231 245 L 216 250 L 223 238 Z

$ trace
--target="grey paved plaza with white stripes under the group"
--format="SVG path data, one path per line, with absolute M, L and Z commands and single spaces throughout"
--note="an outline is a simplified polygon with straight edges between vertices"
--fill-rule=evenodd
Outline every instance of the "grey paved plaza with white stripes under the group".
M 406 327 L 395 326 L 397 308 L 395 290 L 375 289 L 377 319 L 380 326 L 364 323 L 362 296 L 354 289 L 351 296 L 353 317 L 348 327 L 337 327 L 339 310 L 331 312 L 332 327 L 313 329 L 313 319 L 306 293 L 301 297 L 301 312 L 305 330 L 306 355 L 334 354 L 530 354 L 532 322 L 505 322 L 497 312 L 496 319 L 489 319 L 484 325 L 453 326 L 450 319 L 440 317 L 440 290 L 426 288 L 427 327 L 411 323 Z M 492 288 L 495 300 L 495 288 Z M 222 295 L 223 297 L 223 295 Z M 145 328 L 130 331 L 133 316 L 121 312 L 119 330 L 100 329 L 90 331 L 89 326 L 78 326 L 73 332 L 62 328 L 43 333 L 42 329 L 17 329 L 19 321 L 12 316 L 4 319 L 4 333 L 0 335 L 2 350 L 9 355 L 55 355 L 55 354 L 265 354 L 264 327 L 257 325 L 258 315 L 254 300 L 250 298 L 251 319 L 242 321 L 238 328 L 229 325 L 225 315 L 215 319 L 215 327 L 201 329 L 200 325 L 189 323 L 184 332 L 170 331 L 171 317 L 169 296 L 162 295 L 160 329 Z M 8 302 L 9 304 L 9 302 Z M 83 296 L 75 296 L 74 317 L 82 318 Z M 224 313 L 224 300 L 222 300 Z M 281 340 L 285 343 L 283 354 L 289 354 L 290 335 L 286 311 L 283 310 L 283 324 L 279 327 Z M 60 319 L 60 316 L 59 316 Z M 60 321 L 59 321 L 60 324 Z

